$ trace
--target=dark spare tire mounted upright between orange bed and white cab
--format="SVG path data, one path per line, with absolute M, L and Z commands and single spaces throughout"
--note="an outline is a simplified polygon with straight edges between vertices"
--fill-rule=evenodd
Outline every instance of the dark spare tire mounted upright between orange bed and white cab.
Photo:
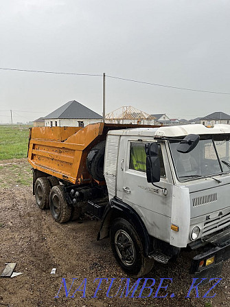
M 93 179 L 104 181 L 104 148 L 106 141 L 94 146 L 87 156 L 87 170 Z

